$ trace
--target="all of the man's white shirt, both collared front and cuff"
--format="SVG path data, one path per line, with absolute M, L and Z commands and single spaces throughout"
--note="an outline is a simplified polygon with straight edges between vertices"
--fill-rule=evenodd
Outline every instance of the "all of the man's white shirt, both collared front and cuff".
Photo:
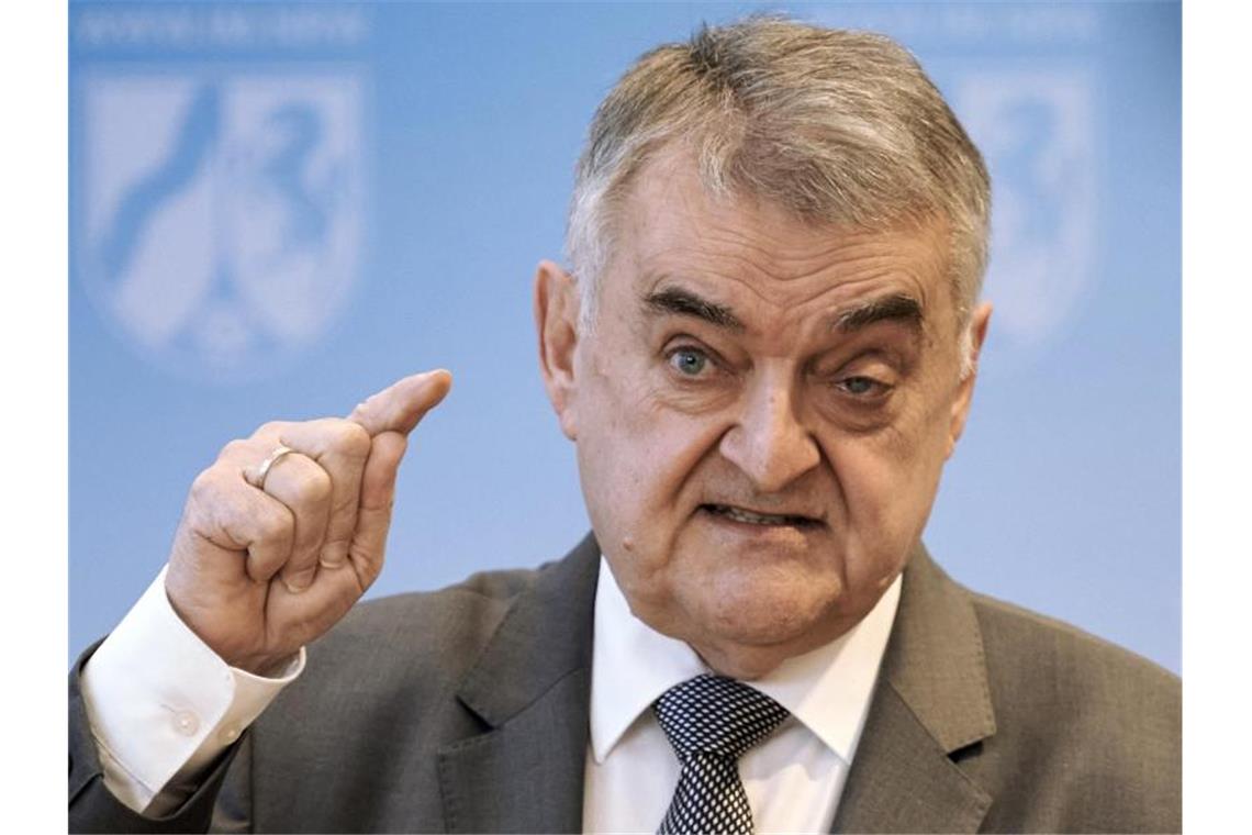
M 896 578 L 839 640 L 752 682 L 791 712 L 740 760 L 756 831 L 830 830 L 899 587 Z M 709 669 L 686 643 L 631 615 L 603 558 L 595 617 L 583 829 L 655 832 L 679 762 L 650 707 Z M 277 679 L 229 667 L 174 612 L 163 570 L 83 671 L 105 786 L 138 812 L 173 811 L 204 767 L 299 676 L 304 658 L 300 650 Z

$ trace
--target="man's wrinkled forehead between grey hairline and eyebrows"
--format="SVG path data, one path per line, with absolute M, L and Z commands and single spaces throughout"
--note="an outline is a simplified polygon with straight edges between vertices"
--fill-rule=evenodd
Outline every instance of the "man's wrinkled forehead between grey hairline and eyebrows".
M 613 264 L 635 294 L 666 282 L 749 293 L 777 307 L 839 304 L 895 292 L 943 307 L 947 254 L 938 224 L 884 232 L 816 224 L 782 207 L 711 195 L 694 165 L 662 156 L 640 172 L 618 214 Z

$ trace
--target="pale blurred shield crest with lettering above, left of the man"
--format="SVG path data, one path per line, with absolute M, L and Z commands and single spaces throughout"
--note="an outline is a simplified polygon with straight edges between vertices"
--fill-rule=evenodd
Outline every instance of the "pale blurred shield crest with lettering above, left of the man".
M 75 255 L 98 315 L 174 374 L 268 376 L 358 278 L 368 19 L 110 5 L 76 23 L 114 59 L 84 61 L 75 89 Z

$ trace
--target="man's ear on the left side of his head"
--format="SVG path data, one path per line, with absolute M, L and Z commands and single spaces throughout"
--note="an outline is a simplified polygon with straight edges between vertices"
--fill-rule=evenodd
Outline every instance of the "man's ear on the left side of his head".
M 578 285 L 550 260 L 541 260 L 535 270 L 535 328 L 543 387 L 561 421 L 561 432 L 576 441 L 573 354 L 578 344 Z

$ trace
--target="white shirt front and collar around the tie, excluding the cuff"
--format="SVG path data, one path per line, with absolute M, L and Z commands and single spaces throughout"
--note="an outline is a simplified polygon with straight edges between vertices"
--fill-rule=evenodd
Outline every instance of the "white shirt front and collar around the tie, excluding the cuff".
M 900 578 L 855 627 L 750 682 L 791 712 L 739 761 L 757 832 L 829 832 L 878 669 Z M 635 617 L 601 557 L 582 829 L 655 832 L 680 766 L 651 711 L 661 694 L 710 672 L 696 652 Z

